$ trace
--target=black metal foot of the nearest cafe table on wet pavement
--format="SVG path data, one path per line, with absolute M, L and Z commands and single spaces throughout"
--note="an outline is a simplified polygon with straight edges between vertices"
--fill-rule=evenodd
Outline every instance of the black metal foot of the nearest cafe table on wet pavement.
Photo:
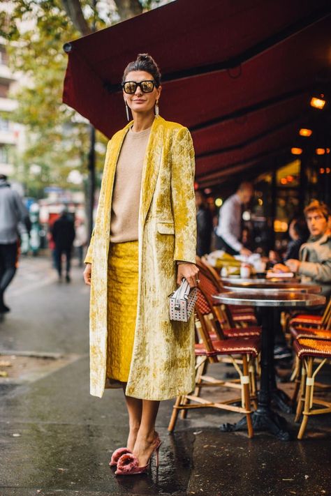
M 276 412 L 259 411 L 253 412 L 251 415 L 253 430 L 267 431 L 277 437 L 280 441 L 290 441 L 290 433 L 287 430 L 287 422 L 284 417 Z M 220 427 L 222 433 L 233 433 L 238 430 L 247 430 L 247 418 L 244 416 L 237 423 L 223 423 Z

